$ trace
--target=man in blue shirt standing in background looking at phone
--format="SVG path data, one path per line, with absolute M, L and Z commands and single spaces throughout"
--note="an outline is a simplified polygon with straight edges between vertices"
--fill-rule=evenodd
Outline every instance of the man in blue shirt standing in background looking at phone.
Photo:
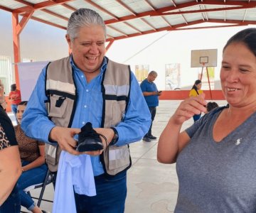
M 151 71 L 149 72 L 148 77 L 140 84 L 142 93 L 146 100 L 146 104 L 148 105 L 149 111 L 151 113 L 151 126 L 149 127 L 149 131 L 143 137 L 143 141 L 146 142 L 151 142 L 151 139 L 156 139 L 156 137 L 151 133 L 154 117 L 156 116 L 156 107 L 159 105 L 159 95 L 161 95 L 161 91 L 158 91 L 156 84 L 154 83 L 156 77 L 156 71 Z

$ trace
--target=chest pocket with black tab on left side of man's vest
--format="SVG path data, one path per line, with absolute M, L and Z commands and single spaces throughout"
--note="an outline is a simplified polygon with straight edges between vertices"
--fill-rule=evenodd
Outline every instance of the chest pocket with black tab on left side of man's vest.
M 53 94 L 50 96 L 50 112 L 48 116 L 62 118 L 67 106 L 68 100 L 66 97 Z

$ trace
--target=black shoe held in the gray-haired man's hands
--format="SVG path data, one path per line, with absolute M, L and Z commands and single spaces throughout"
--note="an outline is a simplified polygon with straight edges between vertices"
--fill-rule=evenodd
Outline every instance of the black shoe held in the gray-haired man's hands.
M 78 134 L 78 148 L 79 152 L 97 151 L 103 149 L 103 143 L 100 135 L 92 129 L 92 124 L 87 122 L 82 126 L 81 132 Z

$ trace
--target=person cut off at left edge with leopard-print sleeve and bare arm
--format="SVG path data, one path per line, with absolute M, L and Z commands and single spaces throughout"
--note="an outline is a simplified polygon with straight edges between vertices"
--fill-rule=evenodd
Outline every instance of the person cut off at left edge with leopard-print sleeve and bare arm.
M 19 213 L 21 200 L 16 182 L 21 175 L 21 160 L 18 153 L 14 126 L 0 106 L 0 212 Z

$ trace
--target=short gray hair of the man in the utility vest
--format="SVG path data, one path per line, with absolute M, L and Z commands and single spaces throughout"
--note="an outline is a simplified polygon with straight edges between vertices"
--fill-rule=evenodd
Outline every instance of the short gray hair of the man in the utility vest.
M 78 31 L 83 26 L 100 25 L 105 32 L 106 38 L 106 26 L 99 13 L 92 11 L 91 9 L 81 8 L 73 12 L 68 20 L 67 33 L 70 35 L 70 39 L 73 41 L 78 37 Z

